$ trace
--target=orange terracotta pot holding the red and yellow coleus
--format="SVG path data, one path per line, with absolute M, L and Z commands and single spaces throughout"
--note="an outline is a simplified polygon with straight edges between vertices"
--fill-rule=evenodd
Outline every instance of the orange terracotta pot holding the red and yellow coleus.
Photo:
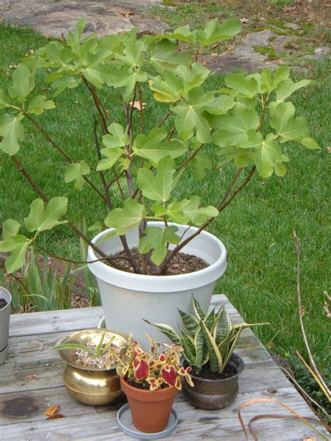
M 146 391 L 131 386 L 122 377 L 121 387 L 128 398 L 135 428 L 145 433 L 156 433 L 168 426 L 172 403 L 178 392 L 175 387 Z

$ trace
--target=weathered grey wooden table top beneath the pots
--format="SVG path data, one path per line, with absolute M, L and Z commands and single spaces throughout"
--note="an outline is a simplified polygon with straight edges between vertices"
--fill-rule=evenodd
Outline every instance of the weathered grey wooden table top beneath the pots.
M 225 303 L 234 322 L 242 321 L 225 296 L 215 295 L 212 303 Z M 64 362 L 52 351 L 60 338 L 79 329 L 96 327 L 101 315 L 102 308 L 98 307 L 11 317 L 9 358 L 0 366 L 1 441 L 132 439 L 118 428 L 116 408 L 84 405 L 68 395 L 62 380 Z M 237 408 L 251 398 L 274 398 L 302 416 L 314 417 L 249 329 L 242 333 L 236 352 L 244 359 L 246 368 L 240 376 L 240 392 L 235 403 L 223 410 L 199 410 L 179 394 L 175 402 L 179 424 L 169 439 L 243 441 Z M 55 404 L 66 417 L 47 421 L 44 411 L 48 405 Z M 286 414 L 286 411 L 269 403 L 242 410 L 246 422 L 260 413 Z M 298 441 L 309 435 L 319 439 L 311 428 L 293 419 L 260 420 L 254 423 L 254 428 L 259 441 Z

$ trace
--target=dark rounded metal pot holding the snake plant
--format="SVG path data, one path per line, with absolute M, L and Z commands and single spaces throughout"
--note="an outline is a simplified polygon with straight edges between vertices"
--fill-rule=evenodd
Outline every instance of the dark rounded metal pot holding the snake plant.
M 235 401 L 238 394 L 238 377 L 244 370 L 244 361 L 237 354 L 233 354 L 229 361 L 237 373 L 230 378 L 222 380 L 206 380 L 190 373 L 194 387 L 186 381 L 183 382 L 183 394 L 189 403 L 196 408 L 216 410 L 226 408 Z

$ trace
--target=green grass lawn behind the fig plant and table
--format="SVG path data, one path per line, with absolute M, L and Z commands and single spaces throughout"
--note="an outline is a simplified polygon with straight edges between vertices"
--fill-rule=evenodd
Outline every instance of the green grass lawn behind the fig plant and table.
M 45 43 L 45 38 L 32 31 L 1 24 L 0 87 L 8 84 L 13 66 L 20 63 L 25 54 Z M 330 63 L 316 64 L 305 76 L 315 81 L 306 90 L 297 91 L 293 102 L 297 113 L 307 118 L 312 136 L 321 145 L 321 150 L 310 151 L 291 145 L 286 176 L 272 177 L 265 182 L 255 176 L 209 231 L 221 238 L 228 250 L 228 270 L 218 282 L 216 292 L 225 292 L 248 322 L 270 322 L 270 326 L 256 329 L 258 337 L 273 351 L 289 357 L 295 349 L 304 353 L 297 317 L 296 256 L 292 240 L 293 230 L 296 230 L 302 240 L 304 321 L 313 353 L 326 366 L 330 333 L 328 319 L 323 315 L 323 290 L 328 289 L 330 274 Z M 222 87 L 223 77 L 213 76 L 210 81 L 215 87 Z M 38 93 L 50 94 L 44 86 L 37 86 Z M 156 109 L 149 91 L 145 94 L 148 130 L 162 119 L 164 112 L 159 106 Z M 101 97 L 110 117 L 125 124 L 119 95 L 101 93 Z M 55 98 L 55 102 L 57 108 L 45 112 L 38 120 L 54 134 L 54 139 L 73 160 L 81 159 L 84 151 L 91 158 L 90 163 L 95 163 L 92 103 L 87 91 L 83 88 L 66 91 Z M 136 118 L 138 121 L 138 114 Z M 170 119 L 168 124 L 170 126 Z M 66 164 L 62 158 L 32 126 L 27 129 L 25 125 L 25 128 L 27 133 L 22 149 L 29 155 L 24 167 L 31 174 L 36 172 L 38 185 L 49 197 L 68 196 L 68 217 L 77 225 L 83 220 L 87 225 L 102 222 L 106 211 L 103 204 L 92 197 L 92 190 L 84 187 L 79 192 L 73 185 L 65 184 Z M 17 157 L 21 157 L 20 152 Z M 219 188 L 225 188 L 234 170 L 229 165 L 221 172 L 210 173 L 194 192 L 203 194 L 207 188 L 208 198 L 203 203 L 215 203 Z M 1 152 L 0 177 L 0 223 L 7 218 L 22 221 L 36 195 L 10 158 Z M 193 185 L 196 185 L 195 181 L 186 174 L 179 193 L 187 195 Z M 45 244 L 60 255 L 79 255 L 78 241 L 65 226 L 57 232 L 45 234 Z

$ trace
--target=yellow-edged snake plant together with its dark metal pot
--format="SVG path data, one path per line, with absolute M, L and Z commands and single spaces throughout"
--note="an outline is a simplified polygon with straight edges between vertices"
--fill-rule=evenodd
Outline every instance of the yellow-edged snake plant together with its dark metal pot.
M 163 332 L 175 344 L 181 345 L 186 366 L 194 383 L 183 382 L 183 393 L 189 403 L 200 409 L 221 409 L 235 401 L 239 387 L 238 377 L 244 370 L 244 361 L 233 350 L 245 327 L 256 324 L 232 324 L 226 308 L 221 306 L 205 314 L 193 297 L 196 317 L 179 311 L 184 327 L 178 335 L 167 324 L 149 323 Z

